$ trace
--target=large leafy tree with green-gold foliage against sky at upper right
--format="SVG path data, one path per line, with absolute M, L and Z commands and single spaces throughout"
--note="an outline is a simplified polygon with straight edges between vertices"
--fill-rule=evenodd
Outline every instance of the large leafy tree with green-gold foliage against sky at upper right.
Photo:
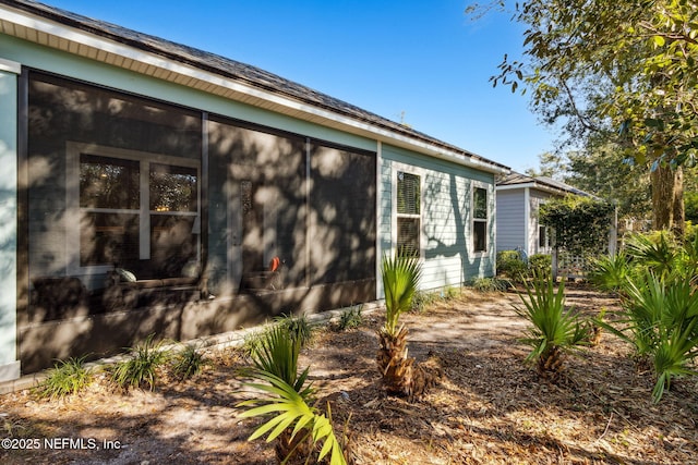
M 524 57 L 505 56 L 494 85 L 530 90 L 568 143 L 601 137 L 648 167 L 653 228 L 682 235 L 681 168 L 698 154 L 698 1 L 527 0 L 514 20 L 527 27 Z

